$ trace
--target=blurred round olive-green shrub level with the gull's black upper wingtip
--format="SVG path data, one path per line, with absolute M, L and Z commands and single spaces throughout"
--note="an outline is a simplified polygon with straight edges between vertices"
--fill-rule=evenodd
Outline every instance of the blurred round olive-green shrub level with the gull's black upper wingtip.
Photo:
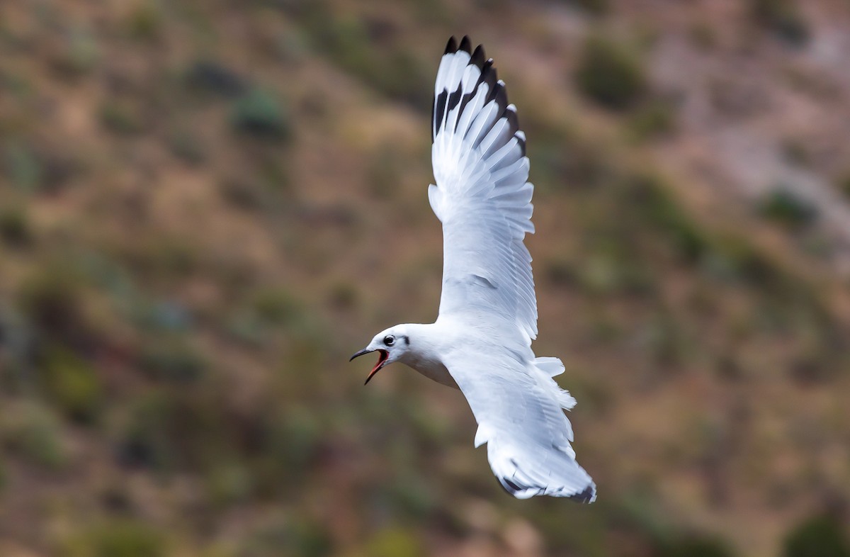
M 596 35 L 585 43 L 575 81 L 587 98 L 615 110 L 634 105 L 647 89 L 638 57 L 620 43 Z

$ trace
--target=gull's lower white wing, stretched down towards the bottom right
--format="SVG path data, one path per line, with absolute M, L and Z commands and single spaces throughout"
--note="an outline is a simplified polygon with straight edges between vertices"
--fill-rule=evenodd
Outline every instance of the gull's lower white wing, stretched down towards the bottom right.
M 467 397 L 479 423 L 475 446 L 487 443 L 487 460 L 501 486 L 518 498 L 549 495 L 592 503 L 596 485 L 575 462 L 563 410 L 575 400 L 550 377 L 553 359 L 523 363 L 503 347 L 488 349 L 471 342 L 443 363 Z

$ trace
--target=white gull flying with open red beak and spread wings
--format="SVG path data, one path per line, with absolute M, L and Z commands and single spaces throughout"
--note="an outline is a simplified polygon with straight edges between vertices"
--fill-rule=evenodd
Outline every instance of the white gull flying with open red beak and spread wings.
M 443 223 L 443 292 L 430 324 L 379 332 L 351 357 L 377 352 L 366 383 L 394 361 L 461 389 L 490 468 L 507 492 L 596 499 L 596 485 L 575 462 L 564 410 L 575 399 L 555 383 L 558 358 L 537 358 L 537 302 L 531 256 L 529 160 L 517 111 L 507 104 L 484 48 L 449 39 L 433 98 L 431 156 L 436 185 L 428 201 Z

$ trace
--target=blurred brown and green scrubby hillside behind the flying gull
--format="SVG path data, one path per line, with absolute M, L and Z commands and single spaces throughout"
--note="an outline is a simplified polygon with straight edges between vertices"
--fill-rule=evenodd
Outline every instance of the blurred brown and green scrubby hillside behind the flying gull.
M 484 43 L 598 502 L 501 491 L 433 321 Z M 0 3 L 0 554 L 850 554 L 844 0 Z

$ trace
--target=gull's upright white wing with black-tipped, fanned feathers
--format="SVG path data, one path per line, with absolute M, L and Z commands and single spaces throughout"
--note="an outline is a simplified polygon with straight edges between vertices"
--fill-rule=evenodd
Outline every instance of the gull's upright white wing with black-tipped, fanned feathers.
M 454 37 L 439 64 L 433 102 L 433 174 L 428 188 L 443 223 L 440 315 L 488 315 L 515 326 L 525 345 L 537 335 L 531 256 L 529 161 L 516 108 L 507 104 L 484 49 Z

